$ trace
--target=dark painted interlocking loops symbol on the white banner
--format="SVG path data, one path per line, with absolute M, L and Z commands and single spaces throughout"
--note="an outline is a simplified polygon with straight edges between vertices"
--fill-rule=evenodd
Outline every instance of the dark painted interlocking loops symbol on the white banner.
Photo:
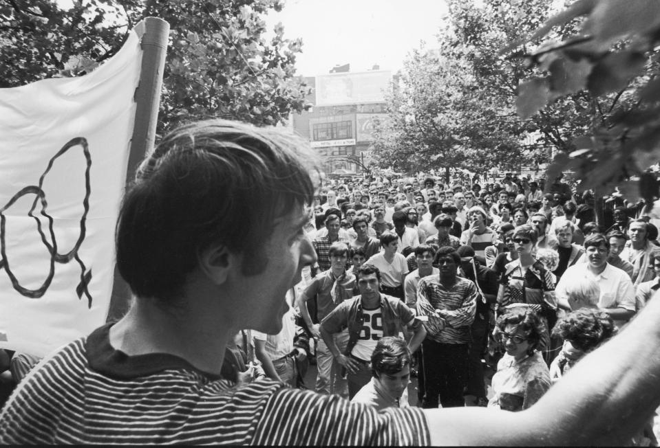
M 83 197 L 82 200 L 82 205 L 83 205 L 83 213 L 80 216 L 80 233 L 77 235 L 77 240 L 76 242 L 72 245 L 72 247 L 58 247 L 57 240 L 56 240 L 56 232 L 54 228 L 54 219 L 50 214 L 48 214 L 48 203 L 47 203 L 47 197 L 46 197 L 46 191 L 44 190 L 44 181 L 47 179 L 48 173 L 51 171 L 53 168 L 56 160 L 58 157 L 63 156 L 67 151 L 71 150 L 72 148 L 81 148 L 83 156 L 85 157 L 85 196 Z M 54 155 L 50 161 L 48 162 L 48 166 L 46 170 L 43 172 L 43 175 L 39 177 L 39 185 L 34 186 L 26 186 L 22 188 L 19 192 L 14 194 L 12 199 L 3 206 L 3 208 L 0 209 L 0 254 L 2 256 L 0 260 L 0 269 L 4 269 L 10 278 L 12 285 L 16 291 L 21 293 L 21 295 L 27 297 L 27 298 L 41 298 L 48 288 L 50 287 L 50 284 L 53 281 L 54 275 L 55 275 L 55 263 L 61 263 L 61 264 L 67 264 L 71 262 L 72 260 L 75 260 L 78 262 L 78 265 L 81 267 L 81 281 L 78 283 L 78 286 L 76 287 L 76 294 L 78 295 L 78 299 L 82 299 L 83 295 L 87 298 L 87 304 L 89 308 L 92 308 L 92 295 L 89 294 L 89 282 L 92 280 L 92 270 L 85 267 L 85 263 L 83 260 L 81 260 L 80 256 L 78 255 L 78 249 L 80 249 L 83 240 L 85 240 L 85 222 L 87 220 L 87 212 L 89 212 L 89 194 L 91 193 L 91 186 L 89 183 L 89 168 L 92 166 L 92 157 L 89 154 L 89 147 L 87 145 L 87 139 L 84 137 L 76 137 L 74 139 L 71 139 L 67 144 L 65 144 L 61 150 L 59 150 L 56 155 Z M 75 173 L 71 173 L 71 177 L 75 177 Z M 45 247 L 46 251 L 44 254 L 50 254 L 50 260 L 48 262 L 49 264 L 49 272 L 48 275 L 46 276 L 45 280 L 41 284 L 40 287 L 36 289 L 30 289 L 27 287 L 24 287 L 21 285 L 21 282 L 16 276 L 16 273 L 12 271 L 12 253 L 9 253 L 8 251 L 8 245 L 7 245 L 7 219 L 8 219 L 8 214 L 6 212 L 10 210 L 12 205 L 19 201 L 22 197 L 29 197 L 30 195 L 34 195 L 34 201 L 32 201 L 32 206 L 30 207 L 30 211 L 28 212 L 28 216 L 30 218 L 34 219 L 36 221 L 36 230 L 39 232 L 39 236 L 41 237 L 41 243 Z M 51 208 L 52 208 L 51 204 Z M 38 210 L 41 208 L 41 210 Z M 41 219 L 37 214 L 43 216 L 43 218 L 47 221 L 47 225 L 43 225 Z M 12 219 L 14 218 L 15 215 L 12 215 Z M 78 221 L 78 218 L 76 217 L 76 221 Z M 75 226 L 77 227 L 78 223 L 76 222 Z M 67 251 L 68 249 L 68 251 Z M 15 268 L 14 268 L 15 269 Z

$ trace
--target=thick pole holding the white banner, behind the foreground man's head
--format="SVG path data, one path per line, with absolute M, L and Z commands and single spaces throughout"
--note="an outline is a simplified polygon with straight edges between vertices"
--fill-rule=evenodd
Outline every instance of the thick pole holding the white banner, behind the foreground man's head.
M 162 75 L 169 37 L 169 23 L 158 17 L 145 18 L 144 25 L 145 30 L 140 42 L 142 46 L 140 82 L 135 93 L 135 121 L 126 170 L 127 186 L 134 180 L 140 161 L 153 150 L 156 140 Z M 122 317 L 129 309 L 130 299 L 131 291 L 128 284 L 121 278 L 115 265 L 107 320 L 118 320 Z

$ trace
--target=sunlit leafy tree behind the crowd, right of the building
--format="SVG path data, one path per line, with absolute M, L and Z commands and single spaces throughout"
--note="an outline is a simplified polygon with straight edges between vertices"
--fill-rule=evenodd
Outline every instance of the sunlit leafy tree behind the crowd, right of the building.
M 534 34 L 555 13 L 552 5 L 545 0 L 449 0 L 437 45 L 409 55 L 388 98 L 396 125 L 376 139 L 381 166 L 409 172 L 438 166 L 473 171 L 535 166 L 549 161 L 551 150 L 573 153 L 582 145 L 579 137 L 593 135 L 595 127 L 616 120 L 617 111 L 634 107 L 629 75 L 648 74 L 648 65 L 627 52 L 595 69 L 594 89 L 584 89 L 592 79 L 593 55 L 571 53 L 584 38 L 577 14 Z M 546 35 L 551 41 L 540 45 Z M 502 53 L 504 47 L 509 51 Z M 554 55 L 562 52 L 571 56 Z M 600 72 L 613 65 L 619 74 L 603 77 Z

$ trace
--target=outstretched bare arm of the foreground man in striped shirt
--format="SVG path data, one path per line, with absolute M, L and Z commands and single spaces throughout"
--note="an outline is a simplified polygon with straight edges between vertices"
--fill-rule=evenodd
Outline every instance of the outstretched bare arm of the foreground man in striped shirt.
M 660 296 L 656 299 L 529 410 L 425 411 L 432 445 L 623 445 L 660 405 Z

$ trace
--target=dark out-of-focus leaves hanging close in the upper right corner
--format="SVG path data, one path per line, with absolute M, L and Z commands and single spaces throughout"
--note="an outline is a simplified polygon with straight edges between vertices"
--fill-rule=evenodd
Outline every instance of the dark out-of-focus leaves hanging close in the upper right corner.
M 551 33 L 573 23 L 562 39 Z M 541 45 L 534 45 L 540 39 Z M 579 93 L 592 98 L 592 121 L 573 148 L 558 153 L 552 172 L 570 168 L 581 188 L 652 201 L 660 151 L 660 3 L 656 0 L 578 0 L 534 32 L 512 41 L 516 52 L 542 76 L 526 80 L 518 98 L 522 117 Z M 530 44 L 532 43 L 532 44 Z M 630 181 L 639 177 L 637 181 Z M 639 189 L 638 189 L 639 188 Z

